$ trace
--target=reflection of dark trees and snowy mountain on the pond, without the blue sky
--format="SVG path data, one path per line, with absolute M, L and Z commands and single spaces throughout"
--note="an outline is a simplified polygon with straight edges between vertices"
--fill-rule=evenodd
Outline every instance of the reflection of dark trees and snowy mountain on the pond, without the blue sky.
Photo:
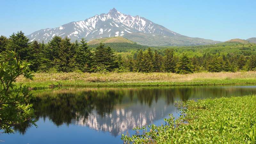
M 56 126 L 75 124 L 117 136 L 175 113 L 175 100 L 251 93 L 256 89 L 250 86 L 88 88 L 39 92 L 33 105 L 36 119 L 49 118 Z M 23 124 L 15 129 L 25 134 L 28 127 Z

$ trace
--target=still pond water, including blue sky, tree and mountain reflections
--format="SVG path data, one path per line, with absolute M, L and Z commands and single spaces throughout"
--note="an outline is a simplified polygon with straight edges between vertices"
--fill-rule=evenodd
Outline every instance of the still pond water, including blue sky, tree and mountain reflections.
M 255 94 L 256 86 L 87 88 L 37 92 L 35 126 L 0 134 L 5 144 L 119 144 L 132 128 L 161 125 L 175 101 Z

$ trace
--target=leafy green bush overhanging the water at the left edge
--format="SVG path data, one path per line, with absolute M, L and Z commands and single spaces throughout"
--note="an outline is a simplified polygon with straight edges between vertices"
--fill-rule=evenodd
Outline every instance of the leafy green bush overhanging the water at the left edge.
M 35 125 L 34 110 L 29 104 L 33 96 L 27 86 L 15 84 L 18 76 L 32 80 L 33 75 L 29 63 L 17 60 L 14 52 L 7 52 L 0 58 L 0 129 L 11 133 L 12 126 L 24 122 Z

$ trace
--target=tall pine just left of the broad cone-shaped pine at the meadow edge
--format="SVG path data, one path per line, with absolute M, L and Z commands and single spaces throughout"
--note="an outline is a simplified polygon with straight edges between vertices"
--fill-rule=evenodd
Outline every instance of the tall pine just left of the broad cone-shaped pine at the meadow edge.
M 167 49 L 165 51 L 164 60 L 163 60 L 163 70 L 165 72 L 175 72 L 176 61 L 173 56 L 173 50 Z

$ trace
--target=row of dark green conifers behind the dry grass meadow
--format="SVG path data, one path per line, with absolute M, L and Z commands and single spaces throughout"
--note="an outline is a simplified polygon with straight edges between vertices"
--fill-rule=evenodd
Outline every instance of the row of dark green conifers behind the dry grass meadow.
M 173 49 L 164 51 L 151 48 L 125 54 L 114 52 L 110 46 L 100 43 L 90 48 L 82 38 L 70 42 L 68 37 L 54 36 L 47 44 L 29 42 L 22 31 L 9 38 L 0 37 L 0 52 L 14 51 L 20 60 L 31 63 L 35 72 L 172 72 L 187 74 L 200 71 L 250 71 L 256 70 L 256 55 L 243 53 L 204 53 L 203 56 L 188 57 L 186 52 Z

